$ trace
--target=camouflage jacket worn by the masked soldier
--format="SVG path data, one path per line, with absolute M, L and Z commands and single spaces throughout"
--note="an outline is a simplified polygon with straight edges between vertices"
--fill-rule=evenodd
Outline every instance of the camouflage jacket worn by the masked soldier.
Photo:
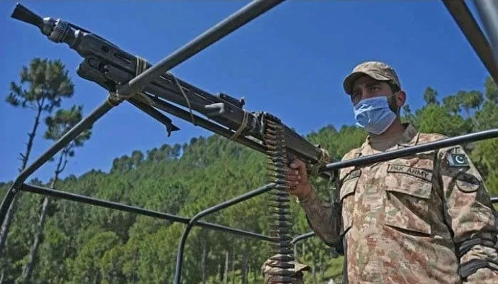
M 387 151 L 442 138 L 407 124 Z M 367 138 L 343 160 L 375 153 Z M 489 268 L 466 278 L 458 273 L 459 264 L 472 259 L 498 263 L 492 247 L 459 250 L 472 237 L 498 235 L 487 188 L 462 147 L 344 168 L 338 188 L 337 202 L 312 190 L 300 204 L 317 236 L 344 249 L 344 283 L 498 283 L 498 272 Z

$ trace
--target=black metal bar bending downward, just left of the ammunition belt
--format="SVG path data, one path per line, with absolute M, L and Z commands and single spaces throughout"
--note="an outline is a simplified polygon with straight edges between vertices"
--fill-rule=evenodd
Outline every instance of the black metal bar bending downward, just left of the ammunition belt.
M 176 253 L 176 267 L 175 267 L 175 274 L 174 274 L 174 284 L 180 284 L 180 279 L 181 279 L 181 264 L 184 258 L 184 247 L 185 247 L 185 241 L 187 236 L 189 236 L 190 230 L 192 229 L 192 226 L 196 224 L 198 219 L 201 219 L 202 217 L 218 212 L 221 209 L 225 209 L 226 207 L 231 207 L 232 205 L 238 204 L 240 202 L 243 202 L 244 200 L 248 200 L 252 197 L 258 196 L 262 193 L 268 192 L 272 190 L 272 188 L 275 187 L 275 183 L 269 183 L 263 187 L 259 187 L 255 190 L 251 190 L 250 192 L 247 192 L 243 195 L 240 195 L 238 197 L 235 197 L 231 200 L 227 200 L 226 202 L 217 204 L 213 207 L 209 207 L 208 209 L 205 209 L 201 212 L 198 212 L 192 219 L 190 219 L 189 224 L 186 226 L 184 234 L 181 235 L 181 240 L 180 244 L 178 246 L 178 253 Z

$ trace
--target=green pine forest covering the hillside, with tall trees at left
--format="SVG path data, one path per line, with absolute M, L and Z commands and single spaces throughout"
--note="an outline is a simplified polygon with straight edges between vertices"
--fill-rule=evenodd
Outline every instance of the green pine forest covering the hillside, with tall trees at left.
M 83 107 L 63 109 L 75 86 L 60 60 L 34 58 L 11 83 L 4 103 L 26 109 L 33 126 L 21 151 L 19 170 L 36 157 L 37 139 L 55 141 L 83 117 Z M 438 94 L 426 87 L 425 105 L 403 107 L 403 121 L 419 131 L 458 136 L 498 127 L 498 88 L 483 78 L 482 89 Z M 39 131 L 45 124 L 45 132 Z M 75 192 L 102 200 L 192 217 L 197 212 L 267 183 L 265 155 L 221 136 L 199 136 L 183 145 L 164 144 L 148 151 L 130 151 L 116 157 L 109 173 L 90 170 L 60 178 L 78 148 L 91 139 L 91 129 L 78 136 L 51 163 L 49 182 L 34 185 Z M 305 136 L 340 159 L 361 145 L 366 133 L 356 126 L 324 126 Z M 498 196 L 498 139 L 469 143 L 465 148 L 482 173 L 492 196 Z M 67 170 L 70 171 L 70 170 Z M 0 182 L 3 198 L 12 181 Z M 327 180 L 312 180 L 329 200 L 334 187 Z M 172 283 L 176 250 L 185 224 L 139 216 L 102 207 L 21 192 L 0 231 L 0 283 Z M 291 202 L 293 235 L 310 231 L 302 209 Z M 203 219 L 268 235 L 267 195 L 237 204 Z M 267 241 L 195 226 L 186 241 L 183 283 L 262 283 L 260 266 L 269 257 Z M 317 237 L 300 241 L 295 258 L 312 270 L 305 283 L 341 283 L 342 256 Z

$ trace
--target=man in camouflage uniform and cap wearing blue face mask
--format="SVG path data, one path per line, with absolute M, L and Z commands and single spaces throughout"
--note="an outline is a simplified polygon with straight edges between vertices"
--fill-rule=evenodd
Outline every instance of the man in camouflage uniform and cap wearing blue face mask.
M 344 90 L 369 136 L 343 160 L 446 138 L 401 123 L 406 93 L 383 62 L 356 66 Z M 343 168 L 332 204 L 300 160 L 288 178 L 309 226 L 344 253 L 344 283 L 498 283 L 497 214 L 461 146 Z

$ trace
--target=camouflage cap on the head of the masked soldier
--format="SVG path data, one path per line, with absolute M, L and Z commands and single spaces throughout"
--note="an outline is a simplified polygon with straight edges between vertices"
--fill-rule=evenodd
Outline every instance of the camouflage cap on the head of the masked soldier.
M 401 89 L 398 75 L 394 69 L 384 62 L 367 61 L 354 67 L 351 74 L 349 74 L 343 82 L 344 91 L 346 94 L 351 94 L 353 91 L 353 84 L 362 75 L 368 75 L 378 81 L 389 81 Z

